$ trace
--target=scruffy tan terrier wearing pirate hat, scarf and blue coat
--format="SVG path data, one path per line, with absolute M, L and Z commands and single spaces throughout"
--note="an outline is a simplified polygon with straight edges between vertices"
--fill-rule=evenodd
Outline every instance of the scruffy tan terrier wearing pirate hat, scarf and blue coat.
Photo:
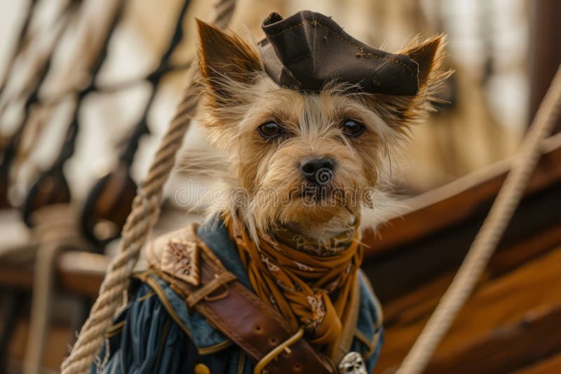
M 147 246 L 104 372 L 370 373 L 383 329 L 360 236 L 388 150 L 450 75 L 445 36 L 386 53 L 309 11 L 272 13 L 259 43 L 197 23 L 209 147 L 182 171 L 222 193 Z

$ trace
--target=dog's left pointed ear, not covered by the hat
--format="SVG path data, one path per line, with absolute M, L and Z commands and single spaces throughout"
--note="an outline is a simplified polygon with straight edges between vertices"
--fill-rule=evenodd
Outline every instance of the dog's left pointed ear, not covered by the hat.
M 236 84 L 249 84 L 252 73 L 263 69 L 259 52 L 234 33 L 196 21 L 199 66 L 208 93 L 217 105 L 235 105 Z

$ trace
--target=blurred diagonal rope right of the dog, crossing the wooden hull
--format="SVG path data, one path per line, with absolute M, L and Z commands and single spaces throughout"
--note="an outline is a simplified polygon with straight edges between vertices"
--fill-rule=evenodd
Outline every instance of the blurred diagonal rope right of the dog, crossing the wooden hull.
M 511 172 L 508 173 L 503 187 L 496 196 L 491 211 L 475 237 L 464 263 L 442 296 L 423 332 L 403 360 L 397 371 L 398 374 L 422 373 L 426 368 L 438 343 L 450 328 L 459 309 L 468 299 L 475 283 L 480 279 L 489 258 L 510 222 L 525 186 L 539 161 L 539 156 L 541 156 L 541 141 L 553 130 L 560 109 L 561 65 L 541 102 L 518 154 L 513 159 Z

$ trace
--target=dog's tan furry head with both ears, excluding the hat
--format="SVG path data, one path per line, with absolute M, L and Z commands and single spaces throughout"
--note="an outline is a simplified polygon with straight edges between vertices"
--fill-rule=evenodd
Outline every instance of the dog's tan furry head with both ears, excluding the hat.
M 405 51 L 419 63 L 417 96 L 358 93 L 327 84 L 302 93 L 275 84 L 257 46 L 198 22 L 210 141 L 229 152 L 257 228 L 321 224 L 372 206 L 384 151 L 426 109 L 445 77 L 442 37 Z M 403 53 L 404 51 L 402 51 Z

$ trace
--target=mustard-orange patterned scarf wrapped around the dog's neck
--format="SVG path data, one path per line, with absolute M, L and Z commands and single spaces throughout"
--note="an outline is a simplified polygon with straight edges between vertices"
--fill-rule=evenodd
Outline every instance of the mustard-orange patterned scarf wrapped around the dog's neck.
M 276 232 L 275 238 L 259 235 L 257 246 L 241 222 L 230 219 L 228 227 L 259 298 L 295 328 L 303 326 L 309 342 L 334 358 L 363 260 L 358 229 L 330 239 L 326 247 L 337 251 L 315 255 L 310 241 L 290 230 Z

